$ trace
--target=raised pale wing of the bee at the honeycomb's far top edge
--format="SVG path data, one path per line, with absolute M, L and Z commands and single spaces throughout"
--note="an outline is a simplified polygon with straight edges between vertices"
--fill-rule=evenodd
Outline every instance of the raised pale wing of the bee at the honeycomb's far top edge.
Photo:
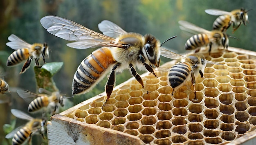
M 205 30 L 199 26 L 196 26 L 195 24 L 192 24 L 190 22 L 187 21 L 179 21 L 179 24 L 182 26 L 182 30 L 183 31 L 187 31 L 189 33 L 191 32 L 198 32 L 198 33 L 211 33 L 211 31 Z

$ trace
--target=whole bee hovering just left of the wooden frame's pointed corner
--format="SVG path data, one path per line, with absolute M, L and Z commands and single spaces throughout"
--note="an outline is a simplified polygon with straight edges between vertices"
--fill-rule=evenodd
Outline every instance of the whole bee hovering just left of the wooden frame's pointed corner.
M 43 108 L 49 110 L 51 115 L 56 113 L 58 106 L 63 107 L 63 95 L 60 92 L 49 92 L 43 88 L 39 89 L 39 92 L 47 92 L 47 94 L 36 94 L 34 92 L 30 92 L 28 90 L 17 90 L 17 93 L 23 99 L 36 97 L 33 101 L 29 103 L 29 107 L 27 109 L 28 112 L 36 112 Z

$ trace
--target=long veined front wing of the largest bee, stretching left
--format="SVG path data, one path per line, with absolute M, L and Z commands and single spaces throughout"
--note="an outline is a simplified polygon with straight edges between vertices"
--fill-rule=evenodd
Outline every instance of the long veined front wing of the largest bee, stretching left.
M 65 18 L 49 15 L 43 17 L 40 22 L 49 33 L 57 37 L 69 41 L 87 42 L 83 44 L 83 49 L 95 46 L 123 47 L 122 44 L 114 42 L 114 38 L 92 31 L 80 24 L 77 24 L 76 22 L 67 20 Z

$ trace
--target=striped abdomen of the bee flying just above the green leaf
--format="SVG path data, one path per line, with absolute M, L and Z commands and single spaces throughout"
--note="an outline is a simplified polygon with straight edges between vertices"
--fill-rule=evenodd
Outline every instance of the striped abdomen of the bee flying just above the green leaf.
M 22 48 L 14 51 L 7 59 L 7 66 L 16 65 L 23 60 L 27 60 L 29 58 L 29 50 L 27 48 Z

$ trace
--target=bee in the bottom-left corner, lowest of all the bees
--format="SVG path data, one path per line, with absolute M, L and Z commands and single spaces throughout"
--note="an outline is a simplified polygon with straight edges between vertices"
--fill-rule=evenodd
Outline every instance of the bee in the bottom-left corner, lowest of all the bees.
M 5 138 L 12 138 L 13 145 L 21 145 L 25 143 L 25 141 L 30 142 L 31 136 L 35 134 L 44 134 L 46 125 L 46 121 L 43 119 L 34 119 L 29 116 L 25 112 L 22 112 L 17 109 L 11 109 L 11 113 L 19 119 L 27 120 L 24 126 L 18 127 L 9 134 L 5 136 Z

